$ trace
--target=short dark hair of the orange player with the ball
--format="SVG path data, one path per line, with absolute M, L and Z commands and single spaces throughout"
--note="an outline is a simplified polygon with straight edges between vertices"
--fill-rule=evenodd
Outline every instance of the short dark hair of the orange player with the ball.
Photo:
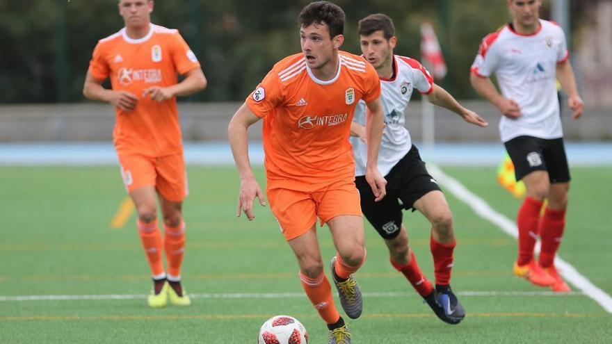
M 344 10 L 335 3 L 316 1 L 309 3 L 298 16 L 300 26 L 324 23 L 330 28 L 330 38 L 344 33 Z

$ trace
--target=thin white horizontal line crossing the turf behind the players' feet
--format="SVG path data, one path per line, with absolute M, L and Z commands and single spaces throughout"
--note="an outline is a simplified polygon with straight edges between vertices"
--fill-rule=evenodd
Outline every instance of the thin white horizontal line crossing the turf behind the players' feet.
M 580 296 L 580 292 L 553 293 L 551 291 L 460 291 L 459 296 L 474 297 L 524 297 L 524 296 Z M 22 295 L 0 296 L 1 301 L 78 301 L 78 300 L 138 300 L 147 294 L 118 295 Z M 363 293 L 364 297 L 416 297 L 417 293 Z M 306 297 L 304 293 L 234 293 L 234 294 L 189 294 L 192 299 L 287 299 Z

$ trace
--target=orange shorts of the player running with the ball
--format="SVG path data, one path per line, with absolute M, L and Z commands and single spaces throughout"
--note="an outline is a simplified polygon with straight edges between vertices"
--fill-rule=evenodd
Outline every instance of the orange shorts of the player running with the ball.
M 339 215 L 361 216 L 359 191 L 353 179 L 323 184 L 268 179 L 266 194 L 285 239 L 305 234 Z

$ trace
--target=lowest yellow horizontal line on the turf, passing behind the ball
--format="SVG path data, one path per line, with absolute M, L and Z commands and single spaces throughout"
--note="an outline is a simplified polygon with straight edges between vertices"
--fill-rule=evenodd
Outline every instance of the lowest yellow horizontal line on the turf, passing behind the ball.
M 0 321 L 99 321 L 99 320 L 239 320 L 267 319 L 273 314 L 198 314 L 168 316 L 5 316 Z M 316 318 L 314 314 L 295 314 L 297 318 Z M 429 313 L 372 313 L 361 318 L 432 318 Z M 469 313 L 470 318 L 603 318 L 606 313 Z

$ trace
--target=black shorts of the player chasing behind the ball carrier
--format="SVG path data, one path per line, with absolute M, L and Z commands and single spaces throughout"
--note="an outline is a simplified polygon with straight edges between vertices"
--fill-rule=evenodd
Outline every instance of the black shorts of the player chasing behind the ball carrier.
M 378 234 L 390 240 L 398 236 L 401 229 L 402 209 L 415 211 L 414 202 L 430 191 L 440 190 L 440 187 L 427 172 L 419 149 L 414 145 L 385 179 L 387 195 L 379 202 L 374 202 L 376 197 L 364 176 L 356 177 L 355 185 L 361 196 L 361 211 Z

